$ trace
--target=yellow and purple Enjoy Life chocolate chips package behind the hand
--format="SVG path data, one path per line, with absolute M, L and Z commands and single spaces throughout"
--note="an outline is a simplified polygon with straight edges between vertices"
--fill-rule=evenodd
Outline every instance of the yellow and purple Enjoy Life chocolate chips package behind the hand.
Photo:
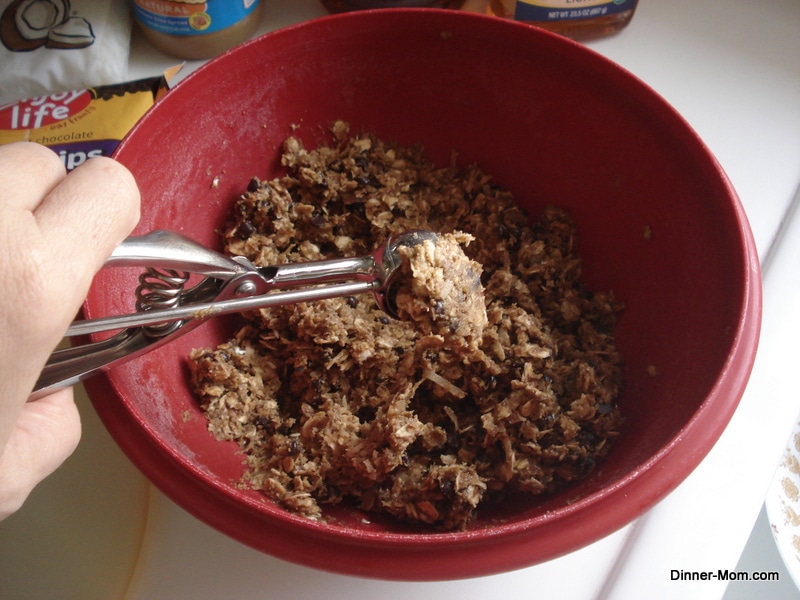
M 0 144 L 30 141 L 48 146 L 68 171 L 89 158 L 110 156 L 136 121 L 166 92 L 173 72 L 0 106 Z

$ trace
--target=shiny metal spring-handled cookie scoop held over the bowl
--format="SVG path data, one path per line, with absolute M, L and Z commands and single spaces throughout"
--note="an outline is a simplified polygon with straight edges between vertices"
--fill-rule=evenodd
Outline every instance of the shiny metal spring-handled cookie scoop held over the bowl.
M 33 397 L 131 360 L 218 315 L 372 292 L 378 306 L 397 318 L 391 299 L 399 248 L 437 239 L 430 231 L 411 231 L 389 238 L 367 256 L 258 268 L 170 231 L 128 238 L 106 266 L 147 268 L 136 290 L 138 312 L 74 322 L 66 337 L 120 331 L 53 352 Z M 191 274 L 204 278 L 186 289 Z

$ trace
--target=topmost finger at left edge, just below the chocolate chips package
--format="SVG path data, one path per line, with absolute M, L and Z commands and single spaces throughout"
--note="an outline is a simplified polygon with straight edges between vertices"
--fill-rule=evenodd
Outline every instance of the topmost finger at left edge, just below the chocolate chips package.
M 6 206 L 34 210 L 65 175 L 64 165 L 49 148 L 31 142 L 0 146 L 0 202 Z

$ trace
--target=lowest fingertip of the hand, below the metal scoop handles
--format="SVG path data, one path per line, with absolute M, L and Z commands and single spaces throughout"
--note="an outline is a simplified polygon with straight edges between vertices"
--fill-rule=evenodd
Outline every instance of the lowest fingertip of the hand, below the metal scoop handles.
M 80 435 L 71 389 L 23 407 L 0 454 L 0 520 L 19 509 L 31 490 L 72 454 Z

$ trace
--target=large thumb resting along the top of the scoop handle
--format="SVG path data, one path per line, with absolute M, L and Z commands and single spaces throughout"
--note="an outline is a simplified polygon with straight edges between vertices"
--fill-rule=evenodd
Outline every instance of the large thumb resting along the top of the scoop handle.
M 133 229 L 139 192 L 111 159 L 92 159 L 52 188 L 33 212 L 0 214 L 0 448 L 49 353 L 56 347 L 113 248 Z M 3 218 L 3 217 L 8 217 Z

